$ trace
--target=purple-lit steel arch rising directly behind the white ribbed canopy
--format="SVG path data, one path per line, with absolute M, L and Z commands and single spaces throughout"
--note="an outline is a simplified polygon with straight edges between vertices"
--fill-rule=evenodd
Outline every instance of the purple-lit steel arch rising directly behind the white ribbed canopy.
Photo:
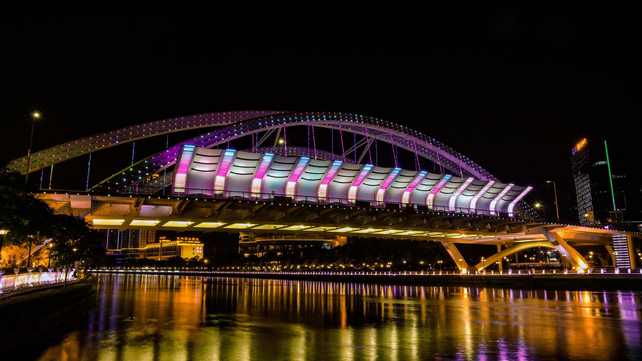
M 201 134 L 196 138 L 187 139 L 139 161 L 134 164 L 134 166 L 128 166 L 109 179 L 103 180 L 103 183 L 122 173 L 125 173 L 125 175 L 129 177 L 135 177 L 137 172 L 141 171 L 139 178 L 126 181 L 130 184 L 139 184 L 144 181 L 145 175 L 158 173 L 168 166 L 173 165 L 177 159 L 181 145 L 211 148 L 257 132 L 297 125 L 313 125 L 315 127 L 340 129 L 362 136 L 366 136 L 367 134 L 367 136 L 372 139 L 378 139 L 390 144 L 394 143 L 398 147 L 409 150 L 410 152 L 415 152 L 416 146 L 418 155 L 435 163 L 440 163 L 451 172 L 461 174 L 463 177 L 472 176 L 480 180 L 494 180 L 499 182 L 492 174 L 471 161 L 468 157 L 456 152 L 453 148 L 445 146 L 434 138 L 428 137 L 411 128 L 404 127 L 403 125 L 382 119 L 341 112 L 291 112 L 259 116 L 258 118 L 248 119 L 247 121 L 218 128 L 207 134 Z

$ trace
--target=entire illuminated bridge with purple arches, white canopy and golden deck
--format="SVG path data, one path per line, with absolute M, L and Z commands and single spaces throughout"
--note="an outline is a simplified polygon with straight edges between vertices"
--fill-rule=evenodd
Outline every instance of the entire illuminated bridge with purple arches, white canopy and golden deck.
M 291 127 L 308 127 L 307 148 L 288 146 Z M 547 247 L 583 272 L 589 262 L 576 247 L 601 245 L 613 265 L 635 265 L 633 237 L 639 233 L 542 218 L 523 202 L 531 187 L 501 183 L 421 132 L 358 114 L 254 110 L 162 119 L 34 152 L 12 161 L 12 168 L 35 172 L 87 152 L 193 128 L 211 129 L 100 184 L 48 184 L 40 186 L 40 195 L 56 211 L 83 215 L 103 229 L 429 240 L 444 245 L 462 270 L 482 270 L 523 249 Z M 328 142 L 317 141 L 315 128 L 331 130 L 331 150 L 317 147 Z M 273 145 L 263 145 L 273 135 Z M 218 149 L 248 136 L 251 148 Z M 377 141 L 389 145 L 394 166 L 372 161 Z M 397 166 L 399 148 L 415 158 L 415 170 Z M 420 157 L 438 172 L 421 170 Z M 498 252 L 468 265 L 458 243 L 494 245 Z

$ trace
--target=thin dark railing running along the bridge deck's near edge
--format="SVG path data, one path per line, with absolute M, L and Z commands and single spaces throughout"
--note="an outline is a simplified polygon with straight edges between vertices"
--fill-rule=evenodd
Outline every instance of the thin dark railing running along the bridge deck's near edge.
M 425 204 L 403 204 L 399 202 L 377 202 L 374 200 L 354 200 L 347 198 L 333 198 L 333 197 L 315 197 L 315 196 L 301 196 L 301 195 L 283 195 L 274 193 L 254 193 L 245 191 L 218 191 L 214 189 L 171 189 L 171 186 L 166 187 L 153 187 L 153 186 L 140 186 L 140 185 L 126 185 L 126 184 L 96 184 L 95 186 L 87 187 L 86 184 L 72 184 L 72 183 L 55 183 L 55 184 L 38 184 L 34 183 L 35 188 L 40 192 L 46 193 L 76 193 L 88 195 L 113 195 L 113 196 L 136 196 L 136 197 L 186 197 L 195 200 L 248 200 L 248 201 L 261 201 L 272 202 L 275 204 L 297 204 L 297 205 L 315 205 L 325 207 L 363 207 L 363 208 L 376 208 L 387 209 L 390 211 L 405 211 L 405 212 L 437 212 L 467 216 L 485 216 L 492 218 L 512 218 L 516 220 L 528 220 L 532 222 L 541 222 L 549 224 L 568 224 L 568 225 L 583 225 L 588 227 L 600 227 L 599 224 L 586 224 L 580 223 L 578 220 L 551 218 L 530 215 L 514 211 L 512 213 L 489 211 L 487 209 L 471 209 L 463 207 L 447 207 L 447 206 L 427 206 Z M 627 231 L 625 227 L 618 227 L 612 225 L 611 229 Z M 630 231 L 630 230 L 629 230 Z M 636 231 L 636 230 L 634 230 Z

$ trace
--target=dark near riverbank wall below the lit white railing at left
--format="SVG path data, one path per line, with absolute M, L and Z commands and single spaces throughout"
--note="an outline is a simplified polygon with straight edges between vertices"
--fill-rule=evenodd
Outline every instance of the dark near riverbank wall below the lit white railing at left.
M 62 286 L 62 285 L 60 285 Z M 0 301 L 0 353 L 20 346 L 95 303 L 94 279 Z

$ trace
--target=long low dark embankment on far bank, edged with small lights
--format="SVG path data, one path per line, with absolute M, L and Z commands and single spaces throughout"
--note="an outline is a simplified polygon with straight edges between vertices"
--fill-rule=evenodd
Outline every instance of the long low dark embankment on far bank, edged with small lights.
M 239 277 L 297 281 L 359 282 L 386 285 L 483 286 L 535 289 L 642 289 L 642 274 L 513 274 L 513 275 L 422 275 L 422 274 L 314 274 L 279 272 L 144 272 L 91 271 L 94 274 L 152 274 L 158 276 Z M 206 283 L 207 279 L 204 280 Z

